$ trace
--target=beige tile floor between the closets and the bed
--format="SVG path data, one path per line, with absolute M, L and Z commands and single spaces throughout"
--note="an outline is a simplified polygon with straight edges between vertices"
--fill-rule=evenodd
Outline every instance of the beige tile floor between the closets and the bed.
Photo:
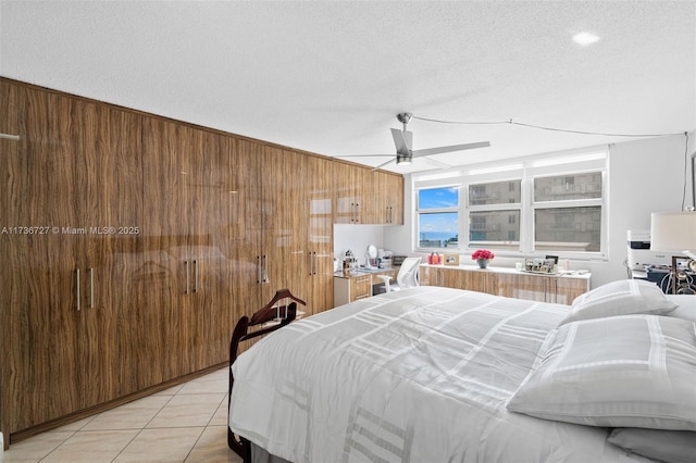
M 13 462 L 240 463 L 227 447 L 227 368 L 13 443 Z

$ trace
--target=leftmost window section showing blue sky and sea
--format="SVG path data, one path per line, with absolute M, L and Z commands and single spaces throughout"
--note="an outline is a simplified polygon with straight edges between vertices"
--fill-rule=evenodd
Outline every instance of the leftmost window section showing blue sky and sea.
M 459 188 L 421 189 L 418 192 L 419 248 L 458 248 Z

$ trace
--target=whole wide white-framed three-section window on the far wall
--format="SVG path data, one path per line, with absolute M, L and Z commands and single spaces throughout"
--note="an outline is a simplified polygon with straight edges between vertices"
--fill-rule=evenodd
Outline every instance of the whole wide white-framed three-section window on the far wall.
M 417 247 L 606 258 L 608 157 L 600 147 L 412 174 Z

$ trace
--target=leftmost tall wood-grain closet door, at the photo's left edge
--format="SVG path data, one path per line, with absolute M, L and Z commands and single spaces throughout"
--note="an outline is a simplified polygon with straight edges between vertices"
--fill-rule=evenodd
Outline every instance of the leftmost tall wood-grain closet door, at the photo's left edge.
M 72 138 L 78 129 L 69 99 L 2 85 L 3 95 L 11 93 L 3 99 L 2 113 L 16 117 L 16 130 L 12 129 L 21 137 L 1 157 L 10 201 L 0 211 L 2 223 L 47 227 L 45 234 L 20 230 L 0 241 L 7 258 L 0 280 L 10 292 L 2 298 L 2 314 L 13 326 L 3 351 L 2 408 L 10 422 L 5 430 L 13 433 L 80 406 L 75 280 L 79 239 L 62 232 L 77 224 Z M 9 102 L 13 104 L 5 112 Z

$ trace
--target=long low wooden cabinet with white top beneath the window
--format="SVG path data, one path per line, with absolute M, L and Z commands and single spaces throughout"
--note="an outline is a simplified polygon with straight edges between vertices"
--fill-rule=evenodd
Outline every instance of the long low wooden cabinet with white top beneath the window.
M 470 289 L 490 295 L 570 305 L 589 290 L 589 274 L 542 275 L 511 268 L 422 265 L 421 285 Z

